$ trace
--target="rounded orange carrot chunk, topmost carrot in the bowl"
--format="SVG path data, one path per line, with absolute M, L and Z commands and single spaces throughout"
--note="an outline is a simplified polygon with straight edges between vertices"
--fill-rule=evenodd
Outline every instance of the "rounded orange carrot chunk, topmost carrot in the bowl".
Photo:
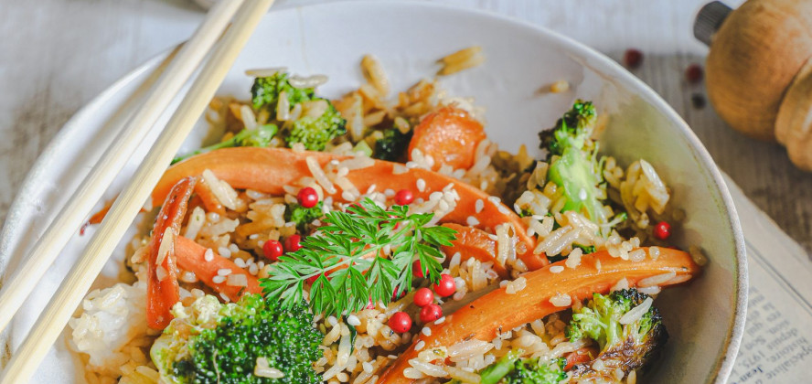
M 423 117 L 414 127 L 414 135 L 409 142 L 411 151 L 419 149 L 422 155 L 434 159 L 433 170 L 451 165 L 454 169 L 468 169 L 474 165 L 476 145 L 486 139 L 482 123 L 477 122 L 468 112 L 455 107 L 443 107 Z

